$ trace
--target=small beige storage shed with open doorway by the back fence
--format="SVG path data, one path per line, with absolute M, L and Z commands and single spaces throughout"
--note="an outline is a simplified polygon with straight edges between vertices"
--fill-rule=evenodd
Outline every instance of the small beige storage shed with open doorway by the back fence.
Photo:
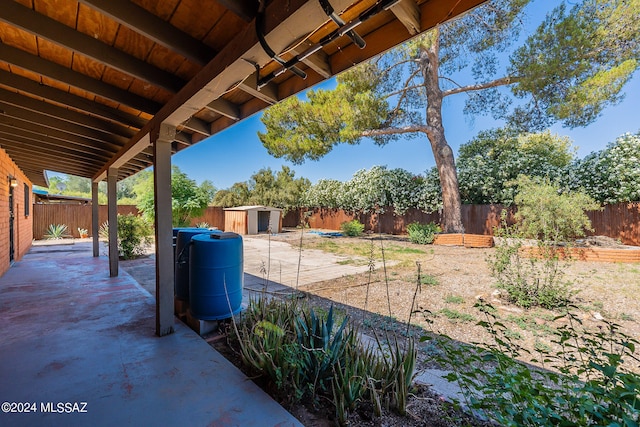
M 224 231 L 258 234 L 282 231 L 282 209 L 269 206 L 238 206 L 224 210 Z

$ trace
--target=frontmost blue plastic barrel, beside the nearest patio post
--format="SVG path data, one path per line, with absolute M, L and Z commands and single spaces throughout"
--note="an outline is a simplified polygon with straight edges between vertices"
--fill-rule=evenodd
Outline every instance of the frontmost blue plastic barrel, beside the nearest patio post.
M 232 317 L 242 305 L 242 237 L 236 233 L 198 235 L 189 255 L 189 309 L 200 320 Z

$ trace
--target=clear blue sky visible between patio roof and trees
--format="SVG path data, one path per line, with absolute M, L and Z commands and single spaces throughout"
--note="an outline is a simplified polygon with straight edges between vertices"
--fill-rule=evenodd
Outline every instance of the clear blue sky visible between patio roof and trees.
M 558 4 L 557 1 L 538 0 L 530 5 L 533 15 L 529 19 L 531 29 L 537 26 L 544 13 Z M 526 35 L 526 34 L 525 34 Z M 625 86 L 625 99 L 616 106 L 609 107 L 593 124 L 585 128 L 567 129 L 555 125 L 551 131 L 571 138 L 577 147 L 578 157 L 603 149 L 618 136 L 640 130 L 640 76 Z M 463 83 L 471 83 L 467 80 Z M 332 88 L 333 80 L 316 86 Z M 488 117 L 473 119 L 462 114 L 464 94 L 445 99 L 443 116 L 447 140 L 457 153 L 458 147 L 472 139 L 479 131 L 499 127 L 500 123 Z M 173 164 L 180 167 L 198 183 L 208 179 L 218 189 L 228 188 L 233 183 L 246 181 L 261 168 L 280 170 L 288 165 L 296 172 L 296 177 L 308 178 L 312 183 L 322 178 L 346 181 L 360 169 L 375 165 L 388 168 L 403 168 L 421 174 L 434 166 L 429 142 L 425 137 L 399 140 L 379 147 L 371 141 L 359 145 L 338 145 L 319 161 L 307 161 L 293 165 L 283 159 L 271 157 L 258 139 L 257 132 L 264 131 L 260 113 L 216 134 L 173 156 Z

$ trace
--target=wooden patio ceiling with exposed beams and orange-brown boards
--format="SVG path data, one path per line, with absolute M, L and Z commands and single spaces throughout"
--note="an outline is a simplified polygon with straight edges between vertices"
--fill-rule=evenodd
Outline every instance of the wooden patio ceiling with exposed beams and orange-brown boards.
M 483 1 L 0 0 L 0 147 L 122 179 Z

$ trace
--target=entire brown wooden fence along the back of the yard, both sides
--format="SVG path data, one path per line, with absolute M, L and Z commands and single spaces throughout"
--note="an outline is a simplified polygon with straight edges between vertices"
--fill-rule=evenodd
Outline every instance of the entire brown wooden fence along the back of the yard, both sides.
M 470 234 L 493 235 L 494 227 L 500 223 L 501 205 L 462 205 L 462 223 Z M 395 215 L 391 210 L 384 214 L 349 214 L 339 209 L 296 209 L 289 211 L 282 220 L 283 227 L 300 224 L 303 212 L 310 212 L 308 224 L 311 228 L 339 230 L 340 224 L 357 219 L 365 225 L 365 230 L 387 234 L 405 234 L 412 222 L 440 222 L 440 214 L 424 213 L 409 209 L 404 215 Z M 135 206 L 118 206 L 118 213 L 137 214 Z M 591 235 L 609 236 L 626 245 L 640 246 L 640 202 L 606 205 L 602 211 L 588 212 L 594 231 Z M 99 209 L 100 223 L 107 220 L 107 207 Z M 211 227 L 224 230 L 224 209 L 208 207 L 205 213 L 194 218 L 191 225 L 206 222 Z M 65 224 L 74 237 L 78 227 L 91 233 L 91 205 L 35 204 L 33 205 L 33 237 L 42 239 L 50 224 Z

